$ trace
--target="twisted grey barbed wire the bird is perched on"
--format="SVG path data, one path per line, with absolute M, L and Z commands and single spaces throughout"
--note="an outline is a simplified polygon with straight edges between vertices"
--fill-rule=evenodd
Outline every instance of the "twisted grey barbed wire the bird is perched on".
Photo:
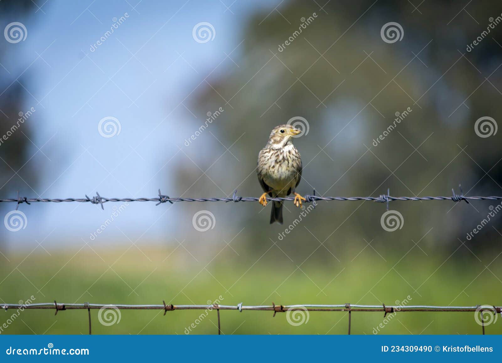
M 389 202 L 395 201 L 395 200 L 401 200 L 401 201 L 422 201 L 422 200 L 451 200 L 453 202 L 459 202 L 464 200 L 466 203 L 469 203 L 469 200 L 502 200 L 502 196 L 472 196 L 472 197 L 467 197 L 463 195 L 462 187 L 459 185 L 460 188 L 460 194 L 456 194 L 453 189 L 452 195 L 447 197 L 447 196 L 425 196 L 425 197 L 394 197 L 392 195 L 389 195 L 389 190 L 387 191 L 387 194 L 381 194 L 378 197 L 323 197 L 316 195 L 316 191 L 314 189 L 313 194 L 306 194 L 304 196 L 305 203 L 311 203 L 319 200 L 324 200 L 324 201 L 357 201 L 357 200 L 364 200 L 364 201 L 373 201 L 373 202 L 379 202 L 379 203 L 387 203 L 387 209 L 389 209 Z M 259 201 L 260 198 L 257 197 L 242 197 L 237 195 L 237 191 L 235 190 L 233 192 L 232 197 L 224 197 L 224 198 L 188 198 L 188 197 L 174 197 L 171 198 L 168 195 L 164 195 L 161 193 L 159 189 L 159 194 L 156 197 L 153 198 L 107 198 L 107 197 L 102 197 L 99 195 L 99 193 L 96 192 L 96 195 L 93 196 L 92 198 L 85 195 L 85 198 L 27 198 L 27 197 L 21 197 L 19 195 L 18 191 L 18 196 L 17 198 L 7 198 L 7 199 L 0 199 L 0 202 L 13 202 L 17 203 L 16 209 L 18 209 L 19 205 L 22 203 L 26 204 L 31 204 L 31 203 L 36 203 L 36 202 L 55 202 L 55 203 L 62 203 L 62 202 L 80 202 L 80 203 L 87 203 L 90 202 L 92 204 L 100 204 L 101 208 L 104 209 L 103 203 L 107 202 L 157 202 L 156 205 L 162 204 L 169 202 L 171 204 L 175 202 L 256 202 Z M 295 197 L 276 197 L 276 198 L 267 198 L 268 201 L 285 201 L 285 200 L 290 200 L 294 201 Z

